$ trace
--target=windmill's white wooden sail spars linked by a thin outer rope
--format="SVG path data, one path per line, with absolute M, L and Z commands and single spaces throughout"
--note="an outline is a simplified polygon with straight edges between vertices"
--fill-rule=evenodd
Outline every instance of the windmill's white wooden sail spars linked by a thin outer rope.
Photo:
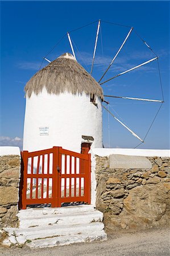
M 53 49 L 61 42 L 61 40 L 64 39 L 65 36 L 67 36 L 68 38 L 68 42 L 70 44 L 70 47 L 71 47 L 71 50 L 72 50 L 72 54 L 74 56 L 74 58 L 76 59 L 76 54 L 75 54 L 75 51 L 74 51 L 74 48 L 73 48 L 73 40 L 71 38 L 71 33 L 73 31 L 76 31 L 76 30 L 80 30 L 81 28 L 84 28 L 86 26 L 89 26 L 91 24 L 94 24 L 94 23 L 97 23 L 97 31 L 96 31 L 96 38 L 95 38 L 95 43 L 94 43 L 94 48 L 93 48 L 93 59 L 92 59 L 92 65 L 91 65 L 91 68 L 90 68 L 90 75 L 92 75 L 93 73 L 93 69 L 94 69 L 94 64 L 95 64 L 95 58 L 97 56 L 97 44 L 98 44 L 98 37 L 99 37 L 99 33 L 101 31 L 101 23 L 110 23 L 110 22 L 106 22 L 106 21 L 103 21 L 103 20 L 97 20 L 96 22 L 92 22 L 92 23 L 89 23 L 89 24 L 86 24 L 85 26 L 82 26 L 80 28 L 76 28 L 75 30 L 72 30 L 72 31 L 69 31 L 67 32 L 63 38 L 61 38 L 59 40 L 59 42 L 57 42 L 57 44 L 51 49 L 51 51 L 53 51 Z M 113 24 L 115 26 L 124 26 L 124 25 L 121 25 L 121 24 L 116 24 L 116 23 L 110 23 L 110 24 Z M 160 75 L 160 67 L 159 67 L 159 56 L 157 56 L 157 54 L 153 51 L 153 49 L 149 46 L 148 43 L 146 43 L 145 40 L 143 40 L 139 34 L 135 31 L 134 27 L 129 27 L 129 26 L 125 26 L 125 27 L 128 27 L 128 33 L 125 35 L 125 39 L 123 40 L 123 42 L 121 43 L 121 46 L 119 46 L 119 48 L 117 49 L 117 51 L 115 52 L 115 54 L 113 55 L 112 59 L 111 59 L 111 62 L 108 63 L 108 66 L 107 68 L 105 69 L 105 71 L 102 73 L 100 79 L 98 80 L 98 83 L 99 85 L 102 86 L 102 89 L 104 91 L 104 100 L 103 100 L 103 104 L 102 104 L 102 108 L 104 110 L 106 110 L 106 112 L 111 115 L 111 117 L 113 117 L 117 122 L 119 122 L 123 127 L 125 127 L 125 129 L 127 129 L 134 137 L 136 137 L 139 141 L 140 141 L 140 144 L 144 143 L 154 121 L 155 121 L 155 118 L 157 116 L 157 114 L 159 113 L 160 109 L 161 109 L 161 106 L 163 105 L 164 103 L 164 96 L 163 96 L 163 86 L 162 86 L 162 83 L 161 83 L 161 75 Z M 135 33 L 136 36 L 139 37 L 140 40 L 142 40 L 142 43 L 144 44 L 144 46 L 146 46 L 152 53 L 154 53 L 155 57 L 152 57 L 151 59 L 148 59 L 142 63 L 139 63 L 138 65 L 134 65 L 133 67 L 130 67 L 128 69 L 125 69 L 123 72 L 119 72 L 117 73 L 117 75 L 115 76 L 111 76 L 110 78 L 108 79 L 105 79 L 106 77 L 106 74 L 109 72 L 110 68 L 115 64 L 115 60 L 117 59 L 117 57 L 119 56 L 119 54 L 121 53 L 123 47 L 125 47 L 127 41 L 129 40 L 130 36 L 132 33 Z M 76 47 L 76 44 L 74 44 L 74 46 Z M 77 47 L 76 47 L 77 48 Z M 47 56 L 48 54 L 51 52 L 49 51 L 47 53 L 47 55 L 43 58 L 43 60 L 47 60 L 49 63 L 51 62 L 50 60 L 47 59 Z M 78 49 L 77 49 L 78 51 Z M 154 98 L 143 98 L 143 97 L 132 97 L 132 96 L 116 96 L 114 94 L 105 94 L 105 85 L 108 84 L 108 82 L 110 81 L 113 81 L 114 79 L 117 79 L 118 77 L 120 76 L 123 76 L 125 75 L 126 73 L 129 73 L 131 71 L 134 71 L 135 69 L 138 69 L 138 68 L 141 68 L 149 63 L 152 63 L 154 61 L 157 61 L 157 70 L 158 70 L 158 73 L 159 73 L 159 79 L 160 79 L 160 88 L 161 88 L 161 94 L 162 94 L 162 99 L 161 100 L 157 100 L 157 99 L 154 99 Z M 43 63 L 43 61 L 42 61 Z M 42 66 L 42 64 L 41 64 Z M 40 67 L 41 67 L 40 66 Z M 131 101 L 142 101 L 142 102 L 156 102 L 157 104 L 160 104 L 160 107 L 159 109 L 157 110 L 157 113 L 154 117 L 154 119 L 151 121 L 151 125 L 149 127 L 149 129 L 147 130 L 147 133 L 146 135 L 144 136 L 144 138 L 140 138 L 139 135 L 134 132 L 132 129 L 130 129 L 130 127 L 128 125 L 125 124 L 125 122 L 122 122 L 120 118 L 118 118 L 115 114 L 113 114 L 110 110 L 109 110 L 109 102 L 107 101 L 108 98 L 117 98 L 117 99 L 123 99 L 123 100 L 131 100 Z M 106 104 L 106 105 L 105 105 Z M 109 122 L 109 117 L 108 117 L 108 122 Z M 109 128 L 109 127 L 108 127 Z M 136 147 L 138 147 L 140 144 L 138 144 Z M 136 148 L 135 147 L 135 148 Z

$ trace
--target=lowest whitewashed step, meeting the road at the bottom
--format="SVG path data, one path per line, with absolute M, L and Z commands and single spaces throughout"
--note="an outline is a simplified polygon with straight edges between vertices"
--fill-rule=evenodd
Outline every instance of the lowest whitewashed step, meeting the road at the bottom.
M 27 243 L 29 247 L 53 247 L 59 245 L 70 245 L 71 243 L 92 242 L 94 240 L 105 241 L 107 235 L 104 230 L 90 234 L 76 234 L 64 237 L 42 238 Z

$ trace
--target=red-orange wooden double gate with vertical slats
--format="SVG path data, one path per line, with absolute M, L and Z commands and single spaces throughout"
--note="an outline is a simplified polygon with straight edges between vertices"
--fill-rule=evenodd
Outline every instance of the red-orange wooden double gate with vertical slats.
M 90 154 L 62 147 L 22 152 L 20 208 L 27 205 L 84 202 L 90 204 Z

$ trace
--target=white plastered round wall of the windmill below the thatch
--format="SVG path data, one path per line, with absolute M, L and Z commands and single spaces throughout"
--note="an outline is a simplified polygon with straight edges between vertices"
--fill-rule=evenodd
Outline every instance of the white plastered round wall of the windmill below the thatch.
M 102 147 L 102 106 L 95 106 L 85 93 L 59 95 L 42 93 L 26 99 L 23 150 L 36 151 L 53 146 L 81 151 L 82 135 L 92 136 L 92 148 Z M 40 135 L 39 127 L 49 127 L 49 135 Z

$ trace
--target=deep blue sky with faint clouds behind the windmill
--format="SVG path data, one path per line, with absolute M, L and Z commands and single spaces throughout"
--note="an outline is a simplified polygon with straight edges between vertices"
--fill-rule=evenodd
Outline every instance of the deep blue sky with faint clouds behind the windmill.
M 169 2 L 168 1 L 1 1 L 1 141 L 3 146 L 22 145 L 24 85 L 36 73 L 42 58 L 67 32 L 98 19 L 101 21 L 93 76 L 98 81 L 125 39 L 129 27 L 159 56 L 164 100 L 159 115 L 139 148 L 169 148 Z M 129 26 L 129 27 L 126 27 Z M 97 22 L 71 32 L 78 62 L 87 70 L 92 64 Z M 65 38 L 47 56 L 54 60 L 71 52 Z M 109 79 L 155 57 L 132 31 L 127 43 L 107 72 Z M 47 65 L 43 61 L 42 67 Z M 102 86 L 105 94 L 162 99 L 157 61 Z M 106 98 L 109 109 L 144 138 L 160 104 Z M 109 131 L 108 131 L 109 127 Z M 134 148 L 140 141 L 106 110 L 103 112 L 105 147 Z

